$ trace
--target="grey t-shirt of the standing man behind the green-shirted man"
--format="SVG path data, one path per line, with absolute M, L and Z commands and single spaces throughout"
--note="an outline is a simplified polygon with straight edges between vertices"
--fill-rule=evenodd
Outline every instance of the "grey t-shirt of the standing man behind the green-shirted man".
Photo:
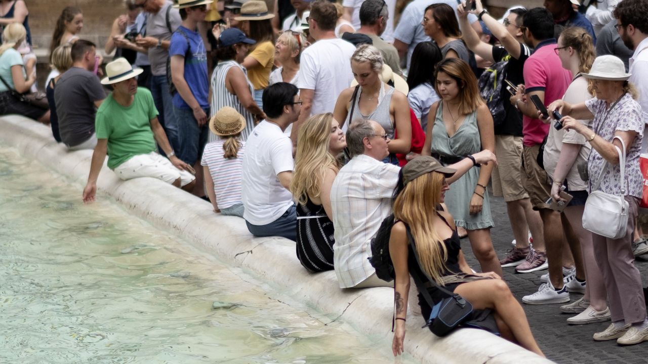
M 171 34 L 178 29 L 182 23 L 178 9 L 172 7 L 173 3 L 168 1 L 162 5 L 156 14 L 148 14 L 146 21 L 146 36 L 161 40 L 170 40 Z M 170 10 L 169 10 L 170 7 Z M 168 22 L 171 29 L 167 26 Z M 167 74 L 168 50 L 162 47 L 150 47 L 148 49 L 148 61 L 151 63 L 151 73 L 154 76 Z

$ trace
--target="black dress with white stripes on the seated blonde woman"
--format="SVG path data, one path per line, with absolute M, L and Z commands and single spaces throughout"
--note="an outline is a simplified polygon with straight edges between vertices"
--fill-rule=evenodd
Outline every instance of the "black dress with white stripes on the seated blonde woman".
M 321 205 L 297 203 L 297 258 L 308 271 L 333 269 L 333 223 Z

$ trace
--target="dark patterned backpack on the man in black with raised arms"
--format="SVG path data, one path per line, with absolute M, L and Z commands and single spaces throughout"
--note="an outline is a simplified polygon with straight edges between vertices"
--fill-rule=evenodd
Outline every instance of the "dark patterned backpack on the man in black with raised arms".
M 502 87 L 505 87 L 504 76 L 508 63 L 509 61 L 497 62 L 489 67 L 481 74 L 478 84 L 481 97 L 484 98 L 491 111 L 495 128 L 502 125 L 506 119 L 503 102 L 508 102 L 508 100 L 502 100 Z

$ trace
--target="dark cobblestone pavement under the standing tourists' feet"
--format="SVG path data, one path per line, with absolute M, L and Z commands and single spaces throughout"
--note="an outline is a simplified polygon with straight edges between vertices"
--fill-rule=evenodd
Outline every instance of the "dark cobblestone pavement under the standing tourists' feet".
M 492 242 L 497 255 L 502 258 L 507 249 L 511 249 L 511 224 L 502 198 L 494 198 L 491 194 L 491 212 L 495 227 L 491 230 Z M 470 266 L 479 268 L 477 260 L 470 251 L 470 242 L 467 238 L 461 240 L 466 258 Z M 643 286 L 648 284 L 648 255 L 647 260 L 641 258 L 635 265 L 642 273 Z M 517 274 L 513 267 L 504 268 L 504 279 L 508 282 L 513 295 L 522 302 L 522 297 L 538 290 L 540 275 L 547 273 L 537 271 L 527 274 Z M 572 301 L 581 295 L 571 293 Z M 572 314 L 562 313 L 560 304 L 531 305 L 522 303 L 527 314 L 533 335 L 538 345 L 546 356 L 559 364 L 576 363 L 618 363 L 638 364 L 648 363 L 648 342 L 630 347 L 619 347 L 616 341 L 598 342 L 592 339 L 594 332 L 604 330 L 607 323 L 594 323 L 587 325 L 570 325 L 566 319 Z

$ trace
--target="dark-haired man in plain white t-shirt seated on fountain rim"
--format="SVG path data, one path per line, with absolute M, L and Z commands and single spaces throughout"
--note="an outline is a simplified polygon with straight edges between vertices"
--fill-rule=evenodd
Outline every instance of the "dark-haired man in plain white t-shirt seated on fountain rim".
M 263 91 L 266 119 L 246 141 L 242 195 L 248 230 L 254 236 L 283 236 L 297 240 L 297 207 L 288 190 L 294 163 L 292 142 L 284 130 L 301 111 L 299 89 L 278 82 Z

